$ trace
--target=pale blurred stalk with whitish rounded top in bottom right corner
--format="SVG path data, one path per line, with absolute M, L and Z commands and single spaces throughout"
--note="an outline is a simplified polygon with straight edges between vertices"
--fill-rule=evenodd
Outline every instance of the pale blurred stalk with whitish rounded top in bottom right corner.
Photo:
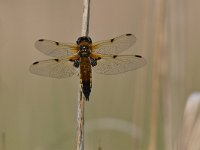
M 187 100 L 182 128 L 174 150 L 199 150 L 200 93 L 193 93 Z

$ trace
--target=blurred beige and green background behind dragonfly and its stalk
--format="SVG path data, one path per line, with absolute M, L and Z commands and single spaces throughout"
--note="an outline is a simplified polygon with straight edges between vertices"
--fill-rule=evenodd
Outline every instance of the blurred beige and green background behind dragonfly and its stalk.
M 200 90 L 199 6 L 198 0 L 91 0 L 93 41 L 132 33 L 137 43 L 127 53 L 144 56 L 147 65 L 115 76 L 93 73 L 85 149 L 175 147 L 186 100 Z M 0 0 L 0 149 L 76 148 L 79 77 L 40 77 L 29 66 L 49 58 L 36 40 L 76 41 L 82 12 L 82 0 Z

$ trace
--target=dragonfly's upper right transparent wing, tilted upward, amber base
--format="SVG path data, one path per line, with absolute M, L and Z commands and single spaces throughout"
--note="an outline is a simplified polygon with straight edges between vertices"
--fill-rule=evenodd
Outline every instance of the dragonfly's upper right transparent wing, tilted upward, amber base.
M 136 42 L 132 34 L 124 34 L 119 37 L 96 42 L 92 46 L 93 52 L 97 54 L 119 54 L 130 48 Z

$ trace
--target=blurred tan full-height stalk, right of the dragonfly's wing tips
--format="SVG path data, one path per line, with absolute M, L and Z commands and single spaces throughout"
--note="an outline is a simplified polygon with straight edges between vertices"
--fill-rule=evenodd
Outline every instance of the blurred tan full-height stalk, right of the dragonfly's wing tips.
M 158 142 L 158 112 L 160 103 L 160 84 L 161 84 L 161 51 L 164 47 L 164 21 L 165 21 L 165 0 L 156 0 L 156 35 L 155 50 L 153 58 L 152 72 L 152 98 L 151 98 L 151 114 L 150 114 L 150 139 L 148 150 L 157 149 Z

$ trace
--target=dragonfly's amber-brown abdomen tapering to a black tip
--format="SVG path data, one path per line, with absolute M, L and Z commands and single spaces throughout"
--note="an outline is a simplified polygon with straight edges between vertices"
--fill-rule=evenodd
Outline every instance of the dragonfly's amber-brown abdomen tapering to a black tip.
M 92 88 L 92 69 L 88 57 L 80 58 L 80 81 L 83 94 L 85 95 L 86 100 L 89 100 Z

